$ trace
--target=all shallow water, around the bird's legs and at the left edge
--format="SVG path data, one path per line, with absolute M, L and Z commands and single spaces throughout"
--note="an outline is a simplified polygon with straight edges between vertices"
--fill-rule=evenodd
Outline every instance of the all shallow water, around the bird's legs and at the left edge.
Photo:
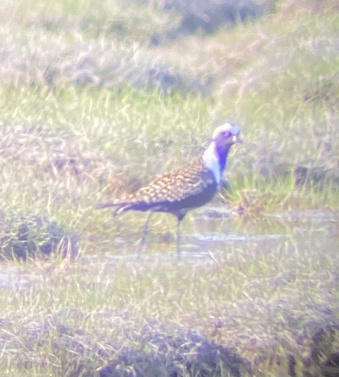
M 123 219 L 122 219 L 123 221 Z M 220 207 L 203 207 L 193 212 L 188 222 L 189 230 L 181 232 L 180 262 L 185 264 L 209 264 L 221 259 L 229 263 L 239 255 L 244 258 L 249 254 L 279 253 L 281 248 L 293 249 L 298 255 L 304 250 L 321 251 L 315 259 L 321 258 L 325 252 L 334 258 L 339 250 L 338 215 L 330 210 L 285 211 L 268 213 L 258 219 L 243 219 L 233 216 L 230 211 Z M 142 253 L 137 257 L 136 241 L 139 233 L 131 233 L 129 238 L 108 233 L 110 239 L 95 237 L 96 253 L 85 253 L 80 257 L 81 264 L 166 264 L 177 259 L 174 236 L 157 234 L 150 228 Z M 107 233 L 105 234 L 107 237 Z M 89 248 L 93 250 L 93 248 Z M 253 256 L 252 256 L 253 257 Z M 314 257 L 314 255 L 313 255 Z M 251 259 L 251 258 L 249 258 Z M 291 258 L 293 263 L 293 258 Z M 78 259 L 79 262 L 79 259 Z M 75 262 L 77 263 L 77 262 Z M 29 270 L 25 271 L 24 263 L 13 262 L 0 264 L 0 288 L 29 288 L 35 279 Z M 99 267 L 98 267 L 99 269 Z

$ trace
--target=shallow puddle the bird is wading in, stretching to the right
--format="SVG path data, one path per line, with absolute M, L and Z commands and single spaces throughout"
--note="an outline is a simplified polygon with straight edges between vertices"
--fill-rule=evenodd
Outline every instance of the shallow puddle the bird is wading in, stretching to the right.
M 173 233 L 162 237 L 154 235 L 156 230 L 152 227 L 149 231 L 141 260 L 161 256 L 165 262 L 177 257 Z M 261 248 L 264 253 L 286 242 L 302 250 L 312 241 L 319 248 L 334 251 L 339 246 L 338 234 L 338 215 L 330 210 L 268 213 L 244 221 L 232 216 L 230 211 L 203 207 L 194 211 L 189 230 L 184 228 L 181 231 L 181 258 L 210 259 L 211 254 L 228 258 L 235 249 L 248 247 Z M 133 233 L 130 238 L 112 235 L 109 247 L 106 242 L 105 255 L 112 260 L 133 260 L 138 236 L 138 233 Z

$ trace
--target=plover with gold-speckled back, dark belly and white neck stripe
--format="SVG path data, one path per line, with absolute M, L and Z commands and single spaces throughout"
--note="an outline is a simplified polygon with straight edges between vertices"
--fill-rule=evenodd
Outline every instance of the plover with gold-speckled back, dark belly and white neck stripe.
M 180 223 L 186 213 L 212 200 L 222 184 L 221 174 L 231 146 L 243 143 L 240 127 L 225 123 L 214 130 L 212 141 L 205 152 L 180 169 L 173 170 L 134 193 L 99 203 L 96 208 L 115 207 L 113 216 L 127 211 L 148 211 L 144 231 L 139 239 L 139 255 L 148 233 L 148 224 L 154 212 L 171 213 L 177 218 L 176 251 L 180 256 Z

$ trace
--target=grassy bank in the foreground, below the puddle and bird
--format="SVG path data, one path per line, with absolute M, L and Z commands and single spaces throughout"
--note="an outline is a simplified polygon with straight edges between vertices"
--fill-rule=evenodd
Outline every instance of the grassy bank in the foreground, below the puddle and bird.
M 320 375 L 336 352 L 338 294 L 335 249 L 319 259 L 321 245 L 315 235 L 302 246 L 268 242 L 266 251 L 235 242 L 200 262 L 145 255 L 2 265 L 0 365 L 8 375 L 87 376 L 120 358 L 122 375 L 145 362 L 159 375 L 158 362 L 166 376 L 178 352 L 200 349 L 201 373 L 213 340 L 255 375 L 285 375 L 291 358 L 297 375 Z M 124 359 L 127 350 L 136 353 Z M 189 375 L 185 359 L 176 365 Z M 208 375 L 223 375 L 213 367 Z

